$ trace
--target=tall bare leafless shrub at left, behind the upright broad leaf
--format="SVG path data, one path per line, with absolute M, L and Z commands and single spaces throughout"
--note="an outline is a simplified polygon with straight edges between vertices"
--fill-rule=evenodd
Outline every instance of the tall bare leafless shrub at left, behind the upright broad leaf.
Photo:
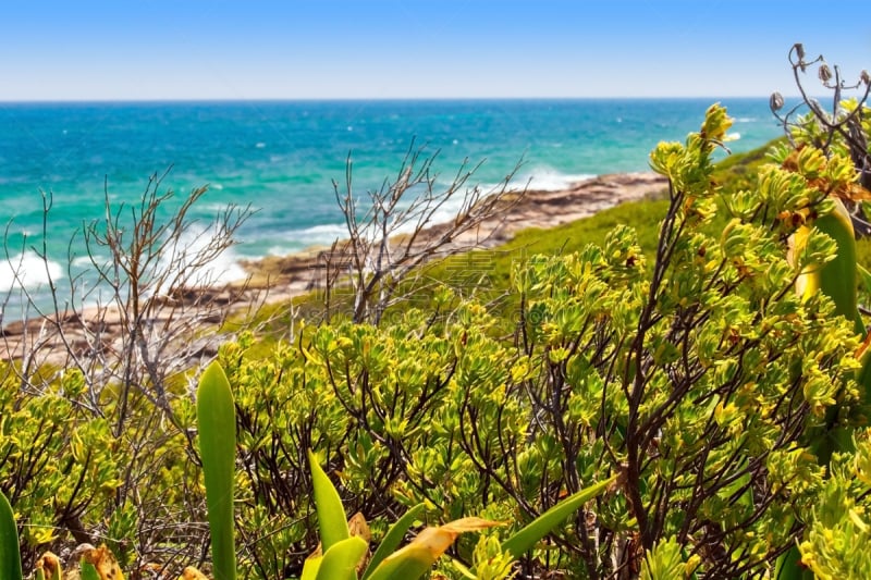
M 14 377 L 21 393 L 36 396 L 57 390 L 70 373 L 78 373 L 84 394 L 75 397 L 75 404 L 106 420 L 134 458 L 119 474 L 123 484 L 113 494 L 112 506 L 135 506 L 140 526 L 135 552 L 144 555 L 161 550 L 168 534 L 188 538 L 194 548 L 207 538 L 205 527 L 189 521 L 188 515 L 168 518 L 179 522 L 177 530 L 169 530 L 160 521 L 167 516 L 159 507 L 161 497 L 142 494 L 150 489 L 143 482 L 160 477 L 165 464 L 179 461 L 164 457 L 175 453 L 164 445 L 172 436 L 185 437 L 187 460 L 197 461 L 195 431 L 184 427 L 174 404 L 193 396 L 198 373 L 186 371 L 205 366 L 219 344 L 231 338 L 216 329 L 238 304 L 256 307 L 262 301 L 245 283 L 219 284 L 219 272 L 212 269 L 216 259 L 235 244 L 238 229 L 253 213 L 250 207 L 231 206 L 210 222 L 199 223 L 192 208 L 207 193 L 204 186 L 162 218 L 175 195 L 164 188 L 165 177 L 167 173 L 151 175 L 132 206 L 114 203 L 106 184 L 103 217 L 85 223 L 76 234 L 84 240 L 87 280 L 73 268 L 72 248 L 77 243 L 71 240 L 65 289 L 56 284 L 49 268 L 45 240 L 51 233 L 52 195 L 44 194 L 42 242 L 30 246 L 25 242 L 20 255 L 25 250 L 36 255 L 45 268 L 48 304 L 28 288 L 24 264 L 11 258 L 16 254 L 8 246 L 5 259 L 15 284 L 0 300 L 5 312 L 13 304 L 22 311 L 21 320 L 7 323 L 0 332 L 0 359 L 11 361 L 0 367 L 5 379 Z M 192 513 L 200 507 L 192 506 Z M 75 514 L 62 514 L 57 525 L 72 532 L 81 528 Z M 155 533 L 151 527 L 162 531 Z M 98 543 L 96 536 L 90 540 Z M 186 559 L 193 557 L 188 554 Z

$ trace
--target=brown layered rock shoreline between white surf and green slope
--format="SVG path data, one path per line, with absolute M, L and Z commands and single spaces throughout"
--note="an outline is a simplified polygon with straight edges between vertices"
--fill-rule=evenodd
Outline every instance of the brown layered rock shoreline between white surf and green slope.
M 452 244 L 463 250 L 493 248 L 522 230 L 555 227 L 619 203 L 658 197 L 667 190 L 667 184 L 666 177 L 648 171 L 602 174 L 560 190 L 527 189 L 506 211 Z M 420 235 L 438 236 L 446 227 L 445 223 L 433 224 Z M 228 317 L 244 311 L 254 313 L 262 306 L 291 300 L 318 286 L 319 263 L 323 263 L 324 252 L 329 251 L 329 247 L 312 248 L 283 257 L 242 260 L 240 264 L 248 274 L 245 282 L 182 289 L 158 305 L 157 314 L 149 322 L 157 328 L 172 322 L 201 331 L 220 325 Z M 223 316 L 216 316 L 217 311 Z M 165 314 L 162 318 L 161 312 Z M 181 321 L 180 313 L 184 317 Z M 123 318 L 115 307 L 109 306 L 10 322 L 0 329 L 0 360 L 37 356 L 42 362 L 63 366 L 69 357 L 68 347 L 88 351 L 99 341 L 100 347 L 113 349 L 122 333 Z M 211 343 L 218 342 L 218 337 L 200 341 L 196 355 L 210 356 L 217 351 L 218 345 Z

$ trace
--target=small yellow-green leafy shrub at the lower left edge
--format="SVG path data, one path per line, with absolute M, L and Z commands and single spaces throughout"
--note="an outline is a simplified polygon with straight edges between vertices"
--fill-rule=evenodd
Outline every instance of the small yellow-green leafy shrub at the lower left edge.
M 130 452 L 83 398 L 74 371 L 41 393 L 22 391 L 12 374 L 0 381 L 0 491 L 24 515 L 26 566 L 68 530 L 86 541 L 101 529 L 123 485 Z

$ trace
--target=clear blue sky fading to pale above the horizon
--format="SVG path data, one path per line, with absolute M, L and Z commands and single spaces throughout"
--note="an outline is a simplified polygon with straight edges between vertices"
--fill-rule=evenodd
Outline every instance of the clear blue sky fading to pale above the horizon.
M 1 0 L 0 100 L 790 95 L 794 42 L 858 77 L 869 23 L 861 1 Z

